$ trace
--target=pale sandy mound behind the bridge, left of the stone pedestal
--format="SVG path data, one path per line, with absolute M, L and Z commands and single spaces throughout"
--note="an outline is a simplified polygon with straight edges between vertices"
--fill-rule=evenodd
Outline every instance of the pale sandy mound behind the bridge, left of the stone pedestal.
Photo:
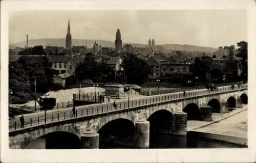
M 104 88 L 100 88 L 100 87 L 96 87 L 96 92 L 102 92 L 105 91 Z M 81 88 L 81 94 L 85 94 L 85 93 L 94 93 L 95 92 L 95 87 L 84 87 Z M 73 89 L 67 89 L 67 90 L 59 90 L 59 91 L 50 91 L 47 92 L 46 94 L 42 95 L 41 97 L 45 98 L 45 95 L 47 95 L 47 97 L 51 97 L 51 98 L 56 98 L 56 103 L 59 102 L 69 102 L 72 101 L 73 99 L 73 94 L 79 94 L 79 88 L 73 88 Z M 22 105 L 28 105 L 28 106 L 34 106 L 35 105 L 35 101 L 29 101 L 25 104 Z M 36 105 L 38 106 L 39 104 L 36 102 Z

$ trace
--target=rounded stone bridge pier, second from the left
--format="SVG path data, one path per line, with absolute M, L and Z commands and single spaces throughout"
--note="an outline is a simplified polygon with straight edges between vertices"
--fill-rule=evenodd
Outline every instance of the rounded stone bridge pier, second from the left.
M 140 119 L 135 123 L 134 146 L 136 148 L 150 147 L 150 122 Z

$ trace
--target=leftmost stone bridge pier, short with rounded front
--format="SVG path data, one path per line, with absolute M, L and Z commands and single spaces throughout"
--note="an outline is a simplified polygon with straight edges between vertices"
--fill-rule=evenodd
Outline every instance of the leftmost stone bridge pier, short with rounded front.
M 87 130 L 81 135 L 82 149 L 99 149 L 99 134 L 93 130 Z

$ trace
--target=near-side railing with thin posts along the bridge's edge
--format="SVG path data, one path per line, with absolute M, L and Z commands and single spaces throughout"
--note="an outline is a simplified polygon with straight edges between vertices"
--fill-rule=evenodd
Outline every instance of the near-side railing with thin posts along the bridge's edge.
M 113 106 L 113 103 L 101 103 L 101 104 L 91 104 L 86 106 L 77 106 L 76 113 L 72 116 L 71 109 L 69 110 L 58 110 L 55 112 L 50 112 L 47 114 L 39 113 L 39 115 L 28 115 L 25 117 L 24 128 L 30 128 L 34 126 L 44 125 L 47 123 L 54 123 L 59 121 L 71 120 L 81 117 L 88 117 L 93 115 L 99 115 L 103 113 L 116 112 L 126 109 L 131 109 L 139 106 L 146 106 L 150 104 L 156 104 L 161 102 L 179 100 L 184 98 L 198 97 L 204 95 L 225 93 L 237 90 L 247 89 L 246 85 L 236 85 L 233 88 L 231 86 L 219 87 L 215 91 L 208 91 L 206 89 L 203 90 L 193 90 L 187 91 L 186 95 L 183 96 L 183 92 L 177 92 L 173 94 L 164 94 L 164 95 L 154 95 L 148 97 L 139 97 L 137 99 L 131 99 L 128 103 L 127 100 L 116 102 L 116 107 Z M 9 121 L 9 131 L 15 131 L 22 129 L 20 126 L 20 121 L 18 118 L 14 118 Z

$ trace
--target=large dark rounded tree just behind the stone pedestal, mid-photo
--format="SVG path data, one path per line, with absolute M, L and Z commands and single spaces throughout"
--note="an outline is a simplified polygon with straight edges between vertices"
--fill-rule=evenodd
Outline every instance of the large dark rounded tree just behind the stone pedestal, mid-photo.
M 126 75 L 126 82 L 137 85 L 146 82 L 148 75 L 151 73 L 150 66 L 147 65 L 146 61 L 139 59 L 133 54 L 126 56 L 123 58 L 122 63 Z

